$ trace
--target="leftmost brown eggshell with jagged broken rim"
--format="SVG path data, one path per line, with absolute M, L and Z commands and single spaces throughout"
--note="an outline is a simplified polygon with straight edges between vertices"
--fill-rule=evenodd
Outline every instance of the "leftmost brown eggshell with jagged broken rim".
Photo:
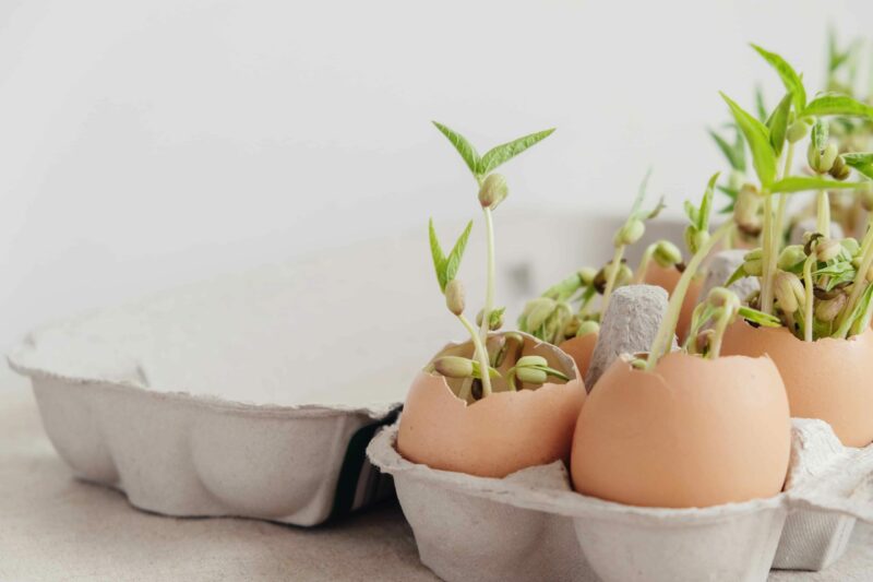
M 414 463 L 481 477 L 505 477 L 525 467 L 569 460 L 585 400 L 582 376 L 572 358 L 557 347 L 530 336 L 525 341 L 525 355 L 546 357 L 551 367 L 569 372 L 571 381 L 536 390 L 495 391 L 467 405 L 445 378 L 421 371 L 400 416 L 398 452 Z M 465 349 L 467 356 L 470 352 Z M 495 389 L 505 390 L 505 383 L 498 381 Z

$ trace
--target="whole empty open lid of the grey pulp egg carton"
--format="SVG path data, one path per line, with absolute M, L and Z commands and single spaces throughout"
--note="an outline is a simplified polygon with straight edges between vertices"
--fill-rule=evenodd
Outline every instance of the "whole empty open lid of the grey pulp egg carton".
M 500 218 L 498 288 L 511 312 L 602 262 L 619 222 Z M 517 236 L 534 224 L 555 236 Z M 485 288 L 480 239 L 461 273 L 470 295 Z M 458 334 L 429 252 L 422 229 L 191 284 L 45 326 L 9 361 L 80 478 L 157 513 L 318 524 L 390 491 L 364 448 Z

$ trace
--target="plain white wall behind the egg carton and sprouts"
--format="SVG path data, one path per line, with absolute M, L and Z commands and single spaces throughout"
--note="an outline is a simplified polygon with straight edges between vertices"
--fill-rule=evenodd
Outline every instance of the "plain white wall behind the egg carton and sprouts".
M 476 212 L 429 124 L 480 147 L 555 126 L 512 204 L 675 210 L 721 161 L 717 91 L 823 78 L 873 3 L 753 0 L 0 3 L 0 347 L 35 324 L 228 269 Z M 548 228 L 542 228 L 548 235 Z M 423 245 L 422 245 L 423 249 Z M 422 257 L 422 260 L 427 260 Z

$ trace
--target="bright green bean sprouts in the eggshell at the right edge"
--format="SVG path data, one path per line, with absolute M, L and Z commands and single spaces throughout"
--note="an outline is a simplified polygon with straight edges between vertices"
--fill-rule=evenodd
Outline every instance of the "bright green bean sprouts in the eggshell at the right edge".
M 762 122 L 722 94 L 749 144 L 757 177 L 756 185 L 745 183 L 742 189 L 763 207 L 761 248 L 746 254 L 745 263 L 727 284 L 742 276 L 757 276 L 761 294 L 756 306 L 761 311 L 777 317 L 806 341 L 846 337 L 870 320 L 873 292 L 868 290 L 865 277 L 873 264 L 873 230 L 868 230 L 861 245 L 854 239 L 832 239 L 828 192 L 869 188 L 863 181 L 847 179 L 852 167 L 860 174 L 870 168 L 866 154 L 839 154 L 825 118 L 873 119 L 873 107 L 833 93 L 808 100 L 802 76 L 788 62 L 761 47 L 753 48 L 779 73 L 786 95 Z M 792 175 L 794 149 L 808 134 L 806 161 L 812 175 Z M 808 234 L 804 246 L 784 249 L 787 195 L 810 190 L 817 192 L 816 233 Z M 745 218 L 738 198 L 734 221 L 740 224 Z

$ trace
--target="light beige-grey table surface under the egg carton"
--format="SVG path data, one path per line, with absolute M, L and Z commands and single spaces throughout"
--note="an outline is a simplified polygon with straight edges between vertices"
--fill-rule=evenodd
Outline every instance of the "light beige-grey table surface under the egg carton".
M 145 513 L 72 478 L 43 432 L 28 383 L 0 366 L 0 581 L 435 580 L 386 502 L 326 527 Z M 873 580 L 873 528 L 825 572 L 773 581 Z

